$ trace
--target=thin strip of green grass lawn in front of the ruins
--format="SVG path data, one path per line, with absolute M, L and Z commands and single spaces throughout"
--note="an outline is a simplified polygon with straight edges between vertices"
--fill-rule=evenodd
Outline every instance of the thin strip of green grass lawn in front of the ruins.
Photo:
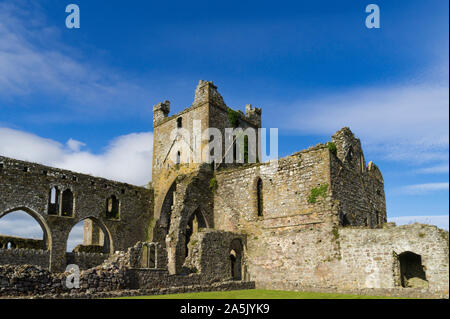
M 173 295 L 137 296 L 119 299 L 398 299 L 386 296 L 359 296 L 281 290 L 233 290 Z

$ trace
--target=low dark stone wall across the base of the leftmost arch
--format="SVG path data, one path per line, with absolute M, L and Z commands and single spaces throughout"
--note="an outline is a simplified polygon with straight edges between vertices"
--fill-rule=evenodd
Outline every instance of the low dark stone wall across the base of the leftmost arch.
M 37 249 L 0 249 L 0 265 L 35 265 L 49 268 L 50 252 Z

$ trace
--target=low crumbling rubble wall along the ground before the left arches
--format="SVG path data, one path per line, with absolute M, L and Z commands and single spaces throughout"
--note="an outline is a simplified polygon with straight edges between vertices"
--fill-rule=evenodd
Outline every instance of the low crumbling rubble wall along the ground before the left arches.
M 165 269 L 132 268 L 132 265 L 139 264 L 139 248 L 141 246 L 142 243 L 138 243 L 135 247 L 129 248 L 127 252 L 117 252 L 110 256 L 100 266 L 81 271 L 80 287 L 72 290 L 66 287 L 66 278 L 70 275 L 68 273 L 51 273 L 33 265 L 0 266 L 0 297 L 45 295 L 48 297 L 78 296 L 86 298 L 99 296 L 106 292 L 116 292 L 115 294 L 117 294 L 117 291 L 121 290 L 125 293 L 129 290 L 140 291 L 140 294 L 176 293 L 208 290 L 207 287 L 220 290 L 222 289 L 220 283 L 226 282 L 225 280 L 220 283 L 217 280 L 214 282 L 211 277 L 203 276 L 203 274 L 169 275 Z M 78 257 L 81 255 L 78 254 Z M 89 254 L 84 254 L 84 257 L 87 255 Z M 176 287 L 179 289 L 175 289 Z M 254 287 L 254 283 L 244 284 L 236 281 L 223 287 L 228 290 L 244 289 L 242 287 L 251 289 Z M 142 289 L 145 292 L 142 292 Z

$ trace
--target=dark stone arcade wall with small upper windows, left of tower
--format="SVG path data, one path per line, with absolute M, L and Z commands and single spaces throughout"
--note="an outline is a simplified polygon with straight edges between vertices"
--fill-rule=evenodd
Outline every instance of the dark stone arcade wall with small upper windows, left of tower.
M 65 269 L 69 233 L 86 218 L 93 219 L 107 234 L 108 252 L 146 239 L 153 214 L 152 190 L 6 157 L 0 157 L 0 164 L 0 218 L 16 210 L 30 214 L 43 229 L 52 270 Z M 49 214 L 52 187 L 58 192 L 71 191 L 72 216 L 58 211 Z M 118 218 L 106 214 L 111 196 L 118 200 Z

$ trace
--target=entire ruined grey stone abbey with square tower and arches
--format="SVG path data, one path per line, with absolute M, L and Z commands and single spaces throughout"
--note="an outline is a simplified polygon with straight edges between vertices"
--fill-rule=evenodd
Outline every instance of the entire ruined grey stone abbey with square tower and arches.
M 387 222 L 383 176 L 349 128 L 276 166 L 180 163 L 174 128 L 258 129 L 262 111 L 233 111 L 200 81 L 193 104 L 169 113 L 168 101 L 153 108 L 147 187 L 0 156 L 0 218 L 25 211 L 44 233 L 0 235 L 0 296 L 257 287 L 448 297 L 448 232 Z M 67 252 L 80 221 L 83 244 Z M 82 270 L 78 289 L 65 286 L 70 264 Z

